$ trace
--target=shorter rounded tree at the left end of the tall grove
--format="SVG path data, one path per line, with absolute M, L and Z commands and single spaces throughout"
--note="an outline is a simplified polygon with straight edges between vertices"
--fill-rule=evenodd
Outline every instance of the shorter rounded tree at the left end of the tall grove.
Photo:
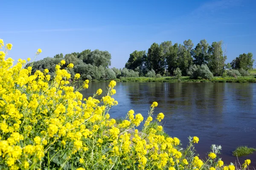
M 125 68 L 135 70 L 137 67 L 142 69 L 144 58 L 146 57 L 146 51 L 135 50 L 130 54 L 128 61 L 125 64 Z

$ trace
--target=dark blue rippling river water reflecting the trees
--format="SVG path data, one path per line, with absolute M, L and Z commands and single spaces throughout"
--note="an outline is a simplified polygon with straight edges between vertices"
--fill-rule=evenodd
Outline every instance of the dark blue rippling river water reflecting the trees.
M 105 92 L 106 86 L 108 82 L 92 82 L 82 94 L 91 96 L 98 88 Z M 211 144 L 222 146 L 225 164 L 236 161 L 236 147 L 256 147 L 256 83 L 118 82 L 115 89 L 113 98 L 119 104 L 111 109 L 111 117 L 124 118 L 130 109 L 147 117 L 157 101 L 155 116 L 165 114 L 166 133 L 178 137 L 183 146 L 188 136 L 198 136 L 195 148 L 202 159 Z M 256 167 L 256 153 L 239 158 L 240 163 L 245 159 Z

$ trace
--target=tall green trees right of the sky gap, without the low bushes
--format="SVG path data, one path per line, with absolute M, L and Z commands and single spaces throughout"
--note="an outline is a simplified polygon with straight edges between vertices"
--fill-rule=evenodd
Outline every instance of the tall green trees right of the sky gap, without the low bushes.
M 223 76 L 225 69 L 247 71 L 253 68 L 252 53 L 240 54 L 231 63 L 225 64 L 227 55 L 222 50 L 222 41 L 209 45 L 206 40 L 201 40 L 195 48 L 193 47 L 192 40 L 174 45 L 171 41 L 162 42 L 160 45 L 154 42 L 147 52 L 132 52 L 125 68 L 138 71 L 142 76 L 149 71 L 161 76 L 173 76 L 177 68 L 183 76 L 189 76 L 192 68 L 201 65 L 206 65 L 213 76 Z

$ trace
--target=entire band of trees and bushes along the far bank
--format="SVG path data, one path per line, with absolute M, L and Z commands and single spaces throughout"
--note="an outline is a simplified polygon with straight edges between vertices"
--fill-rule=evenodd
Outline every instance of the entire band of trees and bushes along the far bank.
M 56 54 L 53 58 L 46 57 L 39 61 L 28 63 L 26 67 L 32 66 L 32 73 L 36 70 L 49 70 L 53 77 L 55 65 L 62 59 L 66 61 L 62 68 L 67 68 L 70 63 L 74 67 L 68 69 L 73 78 L 76 73 L 81 79 L 108 80 L 120 77 L 161 77 L 190 76 L 193 79 L 202 77 L 210 79 L 212 76 L 222 76 L 224 69 L 228 69 L 231 76 L 247 75 L 247 70 L 253 68 L 253 54 L 240 54 L 231 63 L 225 64 L 226 53 L 222 50 L 222 42 L 201 40 L 196 46 L 192 40 L 185 40 L 183 44 L 171 41 L 162 42 L 160 45 L 153 43 L 148 51 L 133 51 L 130 54 L 125 68 L 109 68 L 111 65 L 111 54 L 108 51 L 86 49 L 79 52 Z M 223 54 L 224 53 L 224 54 Z M 240 73 L 240 75 L 239 75 Z M 234 76 L 235 77 L 235 76 Z

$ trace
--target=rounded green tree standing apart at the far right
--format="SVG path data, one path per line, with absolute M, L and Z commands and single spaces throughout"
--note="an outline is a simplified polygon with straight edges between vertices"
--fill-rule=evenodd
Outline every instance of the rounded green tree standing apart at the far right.
M 253 68 L 253 54 L 240 54 L 239 57 L 236 57 L 236 59 L 233 59 L 231 62 L 231 66 L 233 69 L 244 69 L 245 71 Z

